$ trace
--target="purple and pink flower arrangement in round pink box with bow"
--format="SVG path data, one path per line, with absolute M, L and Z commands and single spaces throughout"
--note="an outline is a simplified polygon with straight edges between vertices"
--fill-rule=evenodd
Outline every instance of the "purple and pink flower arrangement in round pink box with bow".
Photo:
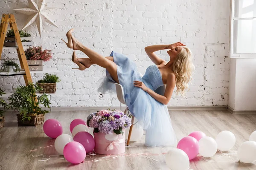
M 91 113 L 87 125 L 94 128 L 96 153 L 113 155 L 125 152 L 125 129 L 131 126 L 131 118 L 122 111 L 109 109 Z

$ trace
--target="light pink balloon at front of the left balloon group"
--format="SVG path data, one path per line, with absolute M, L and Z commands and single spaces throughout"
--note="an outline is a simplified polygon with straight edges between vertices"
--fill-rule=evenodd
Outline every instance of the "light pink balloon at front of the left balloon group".
M 68 142 L 63 149 L 64 158 L 72 164 L 79 164 L 84 161 L 86 152 L 82 144 L 73 141 Z

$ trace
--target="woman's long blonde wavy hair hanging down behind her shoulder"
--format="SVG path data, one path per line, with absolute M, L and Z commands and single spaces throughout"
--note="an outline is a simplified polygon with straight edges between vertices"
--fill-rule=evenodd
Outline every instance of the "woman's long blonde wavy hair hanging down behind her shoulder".
M 185 91 L 189 88 L 189 81 L 192 79 L 192 73 L 195 66 L 192 63 L 192 52 L 186 46 L 183 46 L 173 62 L 173 71 L 176 76 L 176 94 L 185 96 Z

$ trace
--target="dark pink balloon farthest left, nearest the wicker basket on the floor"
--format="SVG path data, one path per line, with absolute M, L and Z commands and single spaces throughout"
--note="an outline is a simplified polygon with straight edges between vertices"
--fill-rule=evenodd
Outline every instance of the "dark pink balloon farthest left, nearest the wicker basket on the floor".
M 61 123 L 56 119 L 48 119 L 43 125 L 44 133 L 50 138 L 57 138 L 63 132 Z

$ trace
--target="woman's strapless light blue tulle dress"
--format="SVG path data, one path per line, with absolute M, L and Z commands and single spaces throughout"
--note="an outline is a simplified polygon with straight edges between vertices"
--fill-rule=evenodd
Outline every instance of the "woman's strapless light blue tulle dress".
M 176 147 L 177 139 L 167 106 L 133 84 L 134 80 L 141 81 L 153 91 L 162 86 L 162 75 L 157 65 L 150 65 L 144 76 L 141 77 L 135 63 L 128 57 L 115 51 L 112 51 L 110 56 L 113 57 L 113 61 L 117 65 L 117 76 L 124 90 L 126 105 L 146 131 L 145 145 L 149 147 Z M 106 77 L 97 91 L 103 94 L 115 93 L 115 85 L 110 83 L 111 81 L 115 82 L 106 70 Z

